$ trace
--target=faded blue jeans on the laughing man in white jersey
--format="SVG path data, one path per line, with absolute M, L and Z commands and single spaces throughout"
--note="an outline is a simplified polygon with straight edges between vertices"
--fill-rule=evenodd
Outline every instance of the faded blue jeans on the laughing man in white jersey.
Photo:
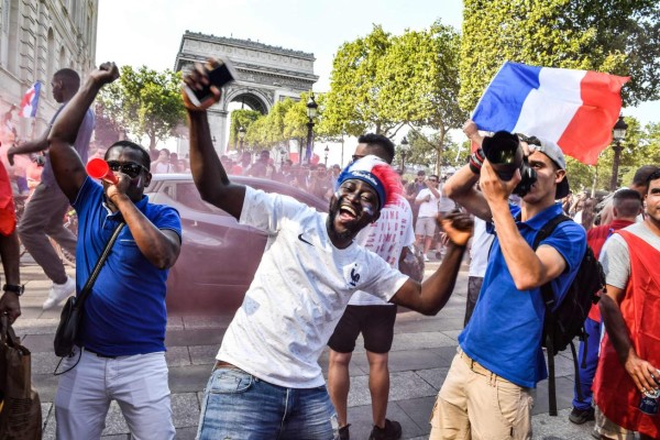
M 285 388 L 235 367 L 219 367 L 204 392 L 198 440 L 338 437 L 326 386 Z

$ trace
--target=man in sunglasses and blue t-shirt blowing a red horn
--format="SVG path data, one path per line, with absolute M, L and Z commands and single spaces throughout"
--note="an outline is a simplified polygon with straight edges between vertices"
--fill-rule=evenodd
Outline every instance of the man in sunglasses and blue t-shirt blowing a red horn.
M 144 196 L 152 175 L 138 144 L 111 145 L 106 161 L 116 182 L 86 173 L 72 146 L 98 91 L 119 77 L 114 64 L 90 74 L 48 135 L 53 173 L 78 213 L 76 287 L 80 292 L 117 226 L 121 230 L 85 307 L 79 346 L 63 362 L 55 396 L 57 438 L 98 439 L 112 399 L 138 439 L 175 435 L 165 362 L 165 292 L 182 240 L 178 212 Z

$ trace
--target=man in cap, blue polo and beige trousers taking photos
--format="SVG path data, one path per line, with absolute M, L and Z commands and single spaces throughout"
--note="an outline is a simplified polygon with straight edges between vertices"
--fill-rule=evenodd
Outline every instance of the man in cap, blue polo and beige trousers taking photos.
M 476 127 L 468 125 L 471 138 L 479 138 Z M 561 150 L 544 142 L 528 145 L 507 132 L 483 139 L 484 150 L 499 142 L 522 147 L 537 180 L 520 207 L 509 205 L 519 170 L 502 180 L 477 151 L 470 165 L 447 182 L 447 195 L 488 222 L 487 230 L 496 237 L 476 307 L 438 394 L 430 439 L 531 438 L 531 391 L 548 376 L 540 287 L 552 282 L 559 304 L 586 249 L 584 229 L 570 221 L 559 224 L 538 249 L 531 248 L 539 230 L 562 213 L 556 200 L 568 194 L 569 183 Z M 481 193 L 474 187 L 477 180 Z

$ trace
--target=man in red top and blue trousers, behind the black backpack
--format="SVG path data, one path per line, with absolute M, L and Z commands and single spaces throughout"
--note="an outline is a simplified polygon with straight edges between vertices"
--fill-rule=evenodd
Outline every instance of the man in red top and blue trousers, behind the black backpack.
M 594 251 L 596 258 L 605 241 L 619 229 L 627 228 L 635 223 L 635 219 L 641 212 L 641 196 L 634 189 L 619 189 L 613 197 L 612 223 L 602 224 L 590 229 L 586 232 L 586 242 Z M 573 424 L 582 425 L 585 421 L 594 419 L 594 407 L 592 406 L 592 384 L 598 365 L 598 349 L 601 345 L 601 310 L 597 305 L 593 305 L 588 318 L 584 321 L 584 330 L 587 339 L 580 342 L 578 364 L 580 369 L 580 392 L 575 387 L 573 396 L 573 410 L 569 420 Z M 584 367 L 583 367 L 584 365 Z

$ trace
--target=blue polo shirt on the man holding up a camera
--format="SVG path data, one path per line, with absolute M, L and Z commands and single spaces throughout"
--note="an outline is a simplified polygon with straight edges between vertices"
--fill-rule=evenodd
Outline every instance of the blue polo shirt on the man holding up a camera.
M 513 205 L 510 210 L 514 217 L 520 211 Z M 539 230 L 560 213 L 561 205 L 556 204 L 516 224 L 531 246 Z M 565 271 L 551 282 L 556 304 L 559 304 L 580 267 L 586 250 L 586 233 L 580 224 L 564 221 L 541 244 L 554 248 L 566 262 Z M 537 382 L 548 377 L 541 350 L 544 311 L 540 287 L 516 288 L 496 237 L 479 300 L 468 327 L 459 336 L 459 344 L 470 358 L 498 376 L 534 388 Z

